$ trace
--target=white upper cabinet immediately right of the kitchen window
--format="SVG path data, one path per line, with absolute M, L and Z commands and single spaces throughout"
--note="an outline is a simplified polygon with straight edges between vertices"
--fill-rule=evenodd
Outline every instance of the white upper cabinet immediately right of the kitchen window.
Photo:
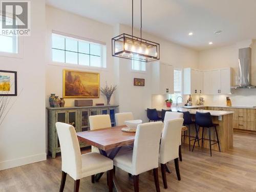
M 203 71 L 191 68 L 183 69 L 183 94 L 195 95 L 203 93 Z

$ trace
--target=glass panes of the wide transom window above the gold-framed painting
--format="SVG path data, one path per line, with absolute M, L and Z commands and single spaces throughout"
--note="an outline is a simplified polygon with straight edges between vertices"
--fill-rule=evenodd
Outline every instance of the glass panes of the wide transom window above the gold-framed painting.
M 52 33 L 52 61 L 105 68 L 105 46 Z

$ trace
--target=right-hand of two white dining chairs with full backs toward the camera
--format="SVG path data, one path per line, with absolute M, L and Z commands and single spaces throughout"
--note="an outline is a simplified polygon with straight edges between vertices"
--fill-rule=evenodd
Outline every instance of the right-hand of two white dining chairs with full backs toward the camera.
M 175 169 L 178 180 L 180 181 L 180 169 L 179 169 L 179 145 L 181 138 L 181 129 L 183 124 L 183 118 L 166 120 L 163 128 L 161 143 L 160 143 L 160 158 L 161 172 L 164 188 L 167 188 L 166 182 L 166 163 L 174 160 Z

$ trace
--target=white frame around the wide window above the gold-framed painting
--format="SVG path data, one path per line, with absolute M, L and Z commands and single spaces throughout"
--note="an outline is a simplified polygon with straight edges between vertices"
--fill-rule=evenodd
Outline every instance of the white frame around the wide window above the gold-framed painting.
M 52 35 L 56 34 L 56 35 L 61 35 L 64 36 L 65 38 L 73 38 L 75 40 L 77 40 L 78 42 L 83 42 L 83 41 L 87 41 L 89 44 L 98 44 L 101 46 L 101 66 L 100 67 L 96 67 L 96 66 L 90 66 L 90 65 L 79 65 L 79 61 L 77 63 L 70 63 L 70 62 L 58 62 L 58 61 L 53 61 L 52 59 L 52 50 L 55 49 L 52 47 Z M 71 67 L 71 68 L 83 68 L 83 69 L 92 69 L 92 70 L 101 70 L 101 71 L 105 71 L 107 70 L 107 65 L 106 65 L 106 44 L 105 42 L 102 41 L 98 41 L 98 40 L 94 40 L 94 39 L 89 39 L 89 38 L 85 38 L 85 37 L 81 37 L 81 36 L 77 36 L 77 35 L 72 35 L 72 34 L 68 34 L 68 33 L 63 33 L 63 32 L 59 32 L 59 31 L 55 31 L 52 30 L 51 34 L 50 34 L 50 63 L 49 65 L 54 65 L 54 66 L 62 66 L 62 67 Z M 62 49 L 55 49 L 55 50 L 62 50 Z M 66 50 L 62 50 L 62 51 L 68 51 Z M 73 52 L 73 53 L 77 53 L 79 54 L 80 52 L 74 52 L 74 51 L 68 51 L 68 52 Z M 83 53 L 82 53 L 83 54 Z M 85 54 L 85 53 L 84 53 Z M 85 54 L 85 55 L 89 55 L 89 56 L 94 56 L 93 54 Z M 66 58 L 65 58 L 66 61 Z

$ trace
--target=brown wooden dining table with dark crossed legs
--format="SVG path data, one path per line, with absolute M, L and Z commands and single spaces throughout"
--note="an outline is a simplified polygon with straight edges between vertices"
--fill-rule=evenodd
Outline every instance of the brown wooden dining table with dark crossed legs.
M 89 145 L 93 145 L 99 149 L 101 155 L 114 159 L 120 148 L 125 145 L 131 145 L 134 143 L 135 132 L 123 132 L 122 126 L 113 126 L 99 130 L 83 131 L 77 133 L 79 141 L 85 142 Z M 186 131 L 187 127 L 182 126 L 181 131 Z M 166 165 L 166 171 L 170 173 L 169 168 Z M 98 182 L 103 173 L 99 173 L 95 176 L 95 181 Z M 113 183 L 116 191 L 122 191 L 118 185 L 115 174 L 113 175 Z

